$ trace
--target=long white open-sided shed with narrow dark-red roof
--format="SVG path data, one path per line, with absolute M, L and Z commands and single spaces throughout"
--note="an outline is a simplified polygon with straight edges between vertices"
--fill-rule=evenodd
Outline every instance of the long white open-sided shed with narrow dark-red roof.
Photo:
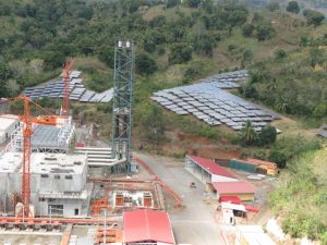
M 238 181 L 234 174 L 210 159 L 186 156 L 185 166 L 193 168 L 194 172 L 201 174 L 202 179 L 207 182 Z

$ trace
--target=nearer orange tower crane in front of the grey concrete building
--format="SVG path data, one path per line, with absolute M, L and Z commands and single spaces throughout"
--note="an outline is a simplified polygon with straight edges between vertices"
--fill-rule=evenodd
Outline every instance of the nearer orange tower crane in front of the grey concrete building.
M 56 115 L 39 115 L 33 118 L 31 115 L 29 105 L 35 105 L 38 109 L 46 111 L 43 107 L 33 102 L 26 96 L 20 96 L 13 99 L 12 101 L 23 101 L 24 102 L 24 114 L 19 115 L 19 120 L 23 122 L 23 161 L 22 161 L 22 204 L 23 204 L 23 216 L 29 217 L 29 204 L 31 204 L 31 137 L 33 135 L 33 123 L 43 124 L 43 125 L 58 125 Z M 10 118 L 3 117 L 1 118 Z M 12 118 L 11 118 L 12 119 Z

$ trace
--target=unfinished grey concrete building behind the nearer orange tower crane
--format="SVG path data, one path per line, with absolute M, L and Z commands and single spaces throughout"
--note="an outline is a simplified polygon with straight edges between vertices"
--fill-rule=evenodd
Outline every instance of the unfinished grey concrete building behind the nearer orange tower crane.
M 31 204 L 35 216 L 87 216 L 90 188 L 87 186 L 86 155 L 32 154 Z M 0 156 L 1 211 L 10 213 L 21 192 L 22 154 Z

